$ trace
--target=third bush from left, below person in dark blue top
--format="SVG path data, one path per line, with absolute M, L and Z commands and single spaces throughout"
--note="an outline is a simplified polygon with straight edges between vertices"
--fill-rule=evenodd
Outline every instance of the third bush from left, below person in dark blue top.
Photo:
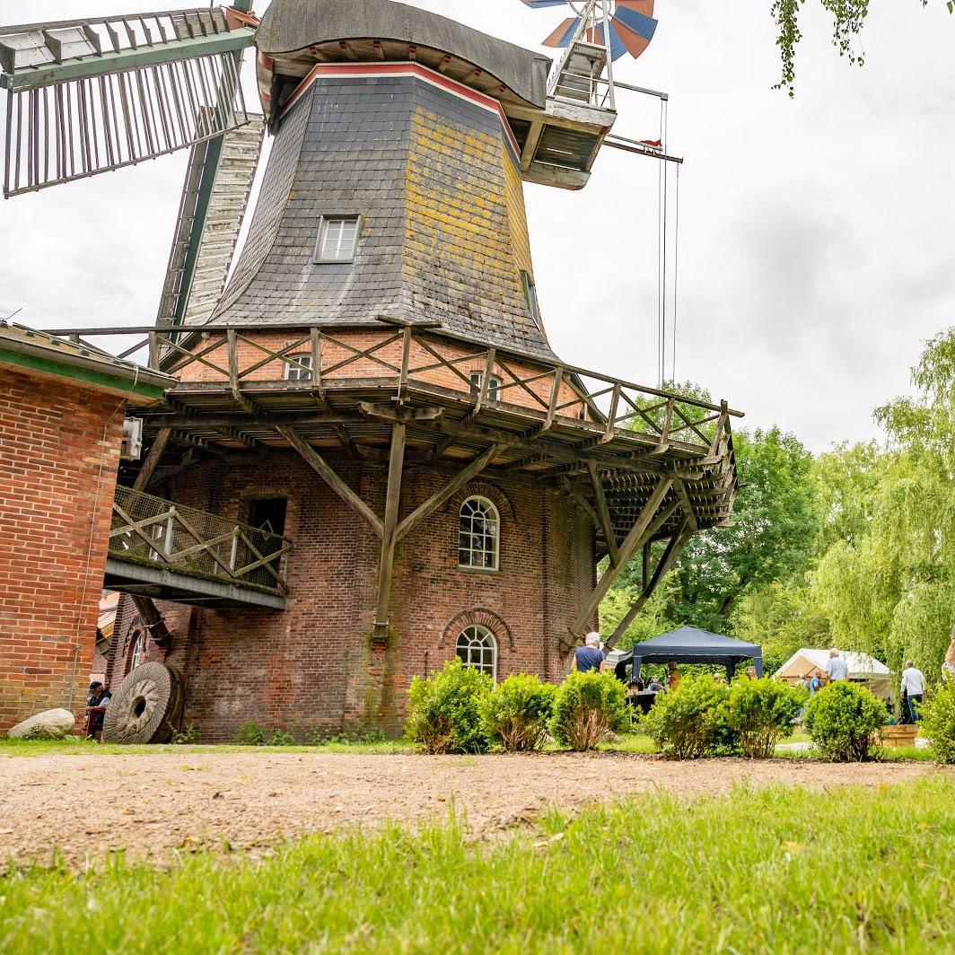
M 557 689 L 550 732 L 561 746 L 583 753 L 626 726 L 626 690 L 610 673 L 574 670 Z

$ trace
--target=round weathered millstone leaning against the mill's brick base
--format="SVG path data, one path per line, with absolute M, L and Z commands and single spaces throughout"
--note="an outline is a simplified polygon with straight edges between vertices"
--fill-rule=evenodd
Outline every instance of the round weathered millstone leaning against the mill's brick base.
M 182 707 L 179 673 L 150 662 L 132 670 L 113 694 L 103 720 L 104 743 L 165 743 Z

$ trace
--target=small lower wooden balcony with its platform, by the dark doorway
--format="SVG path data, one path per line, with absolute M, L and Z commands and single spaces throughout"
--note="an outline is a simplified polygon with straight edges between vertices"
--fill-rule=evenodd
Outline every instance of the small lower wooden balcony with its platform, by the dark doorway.
M 117 487 L 105 585 L 200 606 L 285 609 L 291 541 Z

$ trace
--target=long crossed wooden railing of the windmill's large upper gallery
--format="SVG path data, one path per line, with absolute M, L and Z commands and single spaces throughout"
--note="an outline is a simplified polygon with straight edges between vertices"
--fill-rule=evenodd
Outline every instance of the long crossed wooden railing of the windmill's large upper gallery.
M 348 330 L 367 333 L 370 327 Z M 351 379 L 396 386 L 399 393 L 410 388 L 427 391 L 435 388 L 435 378 L 440 376 L 442 388 L 466 393 L 477 410 L 519 404 L 542 413 L 545 428 L 558 419 L 579 422 L 584 418 L 603 425 L 599 441 L 610 440 L 620 429 L 655 437 L 660 452 L 680 442 L 709 455 L 729 433 L 730 418 L 742 417 L 725 401 L 700 401 L 573 365 L 474 345 L 431 329 L 383 322 L 380 332 L 381 337 L 364 348 L 350 341 L 345 329 L 330 332 L 302 326 L 57 329 L 52 333 L 91 348 L 96 346 L 87 339 L 94 336 L 144 334 L 119 357 L 144 360 L 176 376 L 198 366 L 206 380 L 211 374 L 227 383 L 240 402 L 253 381 L 284 380 L 286 367 L 309 375 L 287 382 L 290 389 L 318 392 L 348 387 Z M 270 348 L 261 340 L 266 335 L 286 335 L 288 341 Z M 308 367 L 303 355 L 308 355 Z M 479 393 L 474 393 L 471 381 L 476 370 L 482 371 Z M 500 380 L 495 393 L 488 387 L 492 375 Z

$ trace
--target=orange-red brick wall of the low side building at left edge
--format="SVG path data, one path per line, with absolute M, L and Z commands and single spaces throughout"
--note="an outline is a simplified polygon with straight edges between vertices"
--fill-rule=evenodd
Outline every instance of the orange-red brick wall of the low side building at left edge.
M 0 368 L 0 730 L 82 713 L 123 410 L 113 394 Z

